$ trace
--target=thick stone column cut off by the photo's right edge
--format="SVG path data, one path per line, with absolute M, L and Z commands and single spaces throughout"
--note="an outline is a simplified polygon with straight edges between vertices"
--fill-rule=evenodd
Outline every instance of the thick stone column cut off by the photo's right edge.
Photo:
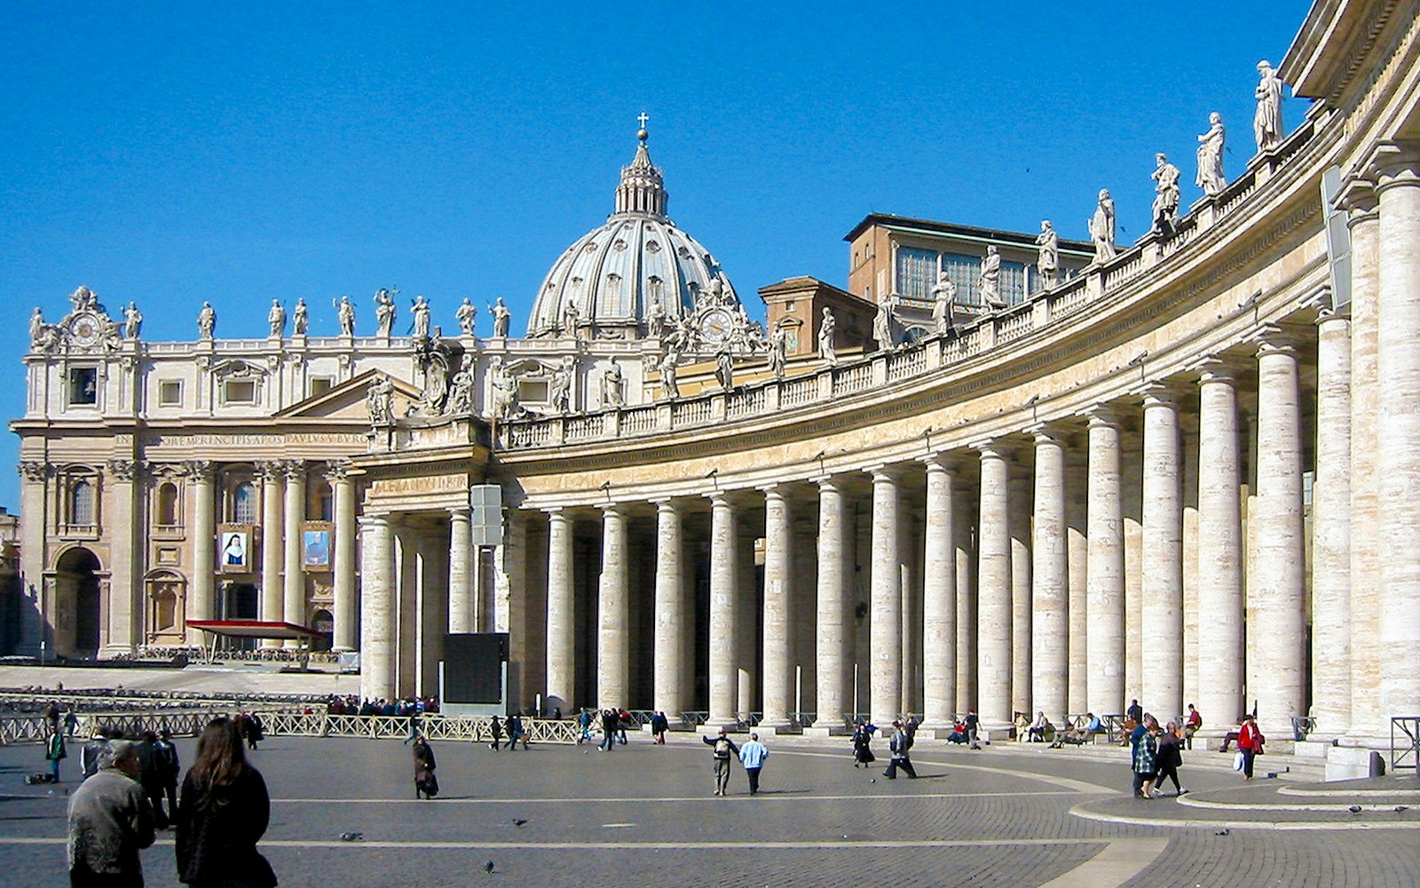
M 1420 142 L 1372 158 L 1380 200 L 1379 448 L 1382 577 L 1380 720 L 1420 713 Z

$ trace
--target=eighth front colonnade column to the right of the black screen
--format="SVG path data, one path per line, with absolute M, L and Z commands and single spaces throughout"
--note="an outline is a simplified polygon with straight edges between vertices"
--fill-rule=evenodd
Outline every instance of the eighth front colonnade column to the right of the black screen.
M 957 706 L 957 554 L 953 460 L 927 465 L 927 529 L 922 571 L 923 726 L 950 729 Z

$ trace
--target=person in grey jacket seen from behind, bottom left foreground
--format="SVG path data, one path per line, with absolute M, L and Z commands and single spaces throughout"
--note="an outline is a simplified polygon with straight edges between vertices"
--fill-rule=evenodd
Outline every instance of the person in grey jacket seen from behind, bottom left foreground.
M 138 784 L 138 747 L 115 740 L 70 797 L 70 885 L 143 884 L 138 852 L 153 844 L 153 811 Z M 273 882 L 274 884 L 274 882 Z

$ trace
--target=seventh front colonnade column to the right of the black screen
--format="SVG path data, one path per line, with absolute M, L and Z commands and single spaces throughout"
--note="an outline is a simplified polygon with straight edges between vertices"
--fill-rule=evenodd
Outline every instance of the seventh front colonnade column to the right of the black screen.
M 897 554 L 897 470 L 872 469 L 873 526 L 870 575 L 869 696 L 873 722 L 890 725 L 902 703 L 902 571 Z

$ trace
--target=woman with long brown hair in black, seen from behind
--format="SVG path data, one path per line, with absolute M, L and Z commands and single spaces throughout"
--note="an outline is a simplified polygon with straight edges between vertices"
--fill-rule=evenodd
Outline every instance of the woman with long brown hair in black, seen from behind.
M 173 818 L 178 879 L 195 888 L 274 888 L 275 872 L 257 852 L 270 817 L 266 780 L 247 764 L 237 723 L 213 719 L 197 739 Z

